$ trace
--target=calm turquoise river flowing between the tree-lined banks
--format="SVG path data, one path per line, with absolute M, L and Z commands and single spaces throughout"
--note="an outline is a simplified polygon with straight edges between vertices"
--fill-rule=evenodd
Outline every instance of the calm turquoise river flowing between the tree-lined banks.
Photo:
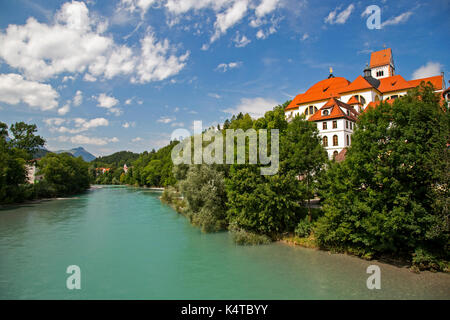
M 281 243 L 236 246 L 159 195 L 104 187 L 1 209 L 0 299 L 450 299 L 449 274 Z M 380 290 L 367 289 L 371 264 Z M 70 265 L 81 290 L 66 287 Z

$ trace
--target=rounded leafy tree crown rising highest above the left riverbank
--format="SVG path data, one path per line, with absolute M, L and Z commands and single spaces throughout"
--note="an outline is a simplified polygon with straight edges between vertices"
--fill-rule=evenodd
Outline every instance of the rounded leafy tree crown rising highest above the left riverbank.
M 14 148 L 26 151 L 30 158 L 40 147 L 43 147 L 45 144 L 45 140 L 42 137 L 35 135 L 37 132 L 37 127 L 35 124 L 17 122 L 11 125 L 10 131 L 13 136 L 10 142 L 11 145 Z

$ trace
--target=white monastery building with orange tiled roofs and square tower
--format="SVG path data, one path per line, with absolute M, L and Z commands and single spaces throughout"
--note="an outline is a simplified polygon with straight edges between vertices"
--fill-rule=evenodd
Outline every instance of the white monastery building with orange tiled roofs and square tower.
M 396 74 L 392 49 L 384 49 L 371 54 L 370 64 L 363 75 L 353 82 L 335 77 L 330 69 L 327 79 L 297 95 L 285 113 L 288 119 L 302 114 L 307 120 L 317 123 L 322 143 L 328 156 L 333 158 L 351 145 L 351 136 L 360 113 L 368 107 L 376 107 L 381 101 L 392 103 L 422 82 L 431 82 L 437 93 L 444 95 L 445 91 L 445 97 L 449 96 L 445 90 L 444 73 L 407 81 Z M 342 154 L 345 156 L 345 152 Z

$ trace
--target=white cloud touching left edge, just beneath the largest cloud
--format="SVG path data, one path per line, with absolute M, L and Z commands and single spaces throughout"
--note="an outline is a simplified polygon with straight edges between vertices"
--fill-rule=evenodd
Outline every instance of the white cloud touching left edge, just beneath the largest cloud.
M 23 102 L 30 107 L 47 111 L 58 107 L 58 98 L 59 94 L 48 84 L 25 80 L 14 73 L 0 74 L 1 102 L 12 105 Z

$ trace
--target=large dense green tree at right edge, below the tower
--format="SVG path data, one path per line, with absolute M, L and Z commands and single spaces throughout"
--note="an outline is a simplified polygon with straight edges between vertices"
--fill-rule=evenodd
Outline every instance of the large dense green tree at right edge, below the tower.
M 369 256 L 448 259 L 448 201 L 441 200 L 448 196 L 449 123 L 429 85 L 363 113 L 346 160 L 323 180 L 319 243 Z

